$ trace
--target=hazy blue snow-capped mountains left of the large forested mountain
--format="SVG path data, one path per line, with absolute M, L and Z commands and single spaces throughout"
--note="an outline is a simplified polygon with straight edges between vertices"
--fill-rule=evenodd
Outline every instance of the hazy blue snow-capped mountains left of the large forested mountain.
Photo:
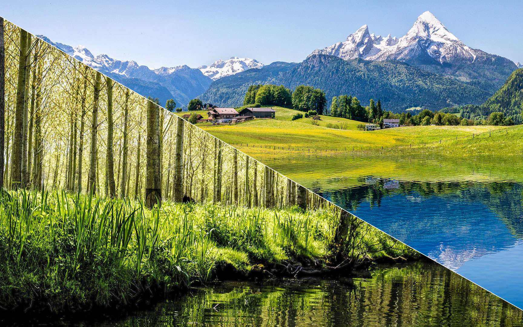
M 38 37 L 133 91 L 144 96 L 157 97 L 161 104 L 165 104 L 167 99 L 174 98 L 177 106 L 186 106 L 190 99 L 205 92 L 213 79 L 253 67 L 263 67 L 262 63 L 254 59 L 233 57 L 225 61 L 218 60 L 209 67 L 202 66 L 198 69 L 180 65 L 152 70 L 132 60 L 115 60 L 107 54 L 95 56 L 84 46 L 73 48 L 67 44 L 53 42 L 43 35 Z

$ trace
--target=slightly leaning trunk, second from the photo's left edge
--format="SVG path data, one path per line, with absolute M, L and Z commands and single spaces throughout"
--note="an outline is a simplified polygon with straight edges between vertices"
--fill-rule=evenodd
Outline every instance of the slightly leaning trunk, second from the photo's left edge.
M 16 85 L 15 130 L 12 151 L 11 187 L 19 188 L 22 182 L 22 136 L 24 134 L 24 98 L 26 89 L 27 32 L 20 28 L 18 81 Z

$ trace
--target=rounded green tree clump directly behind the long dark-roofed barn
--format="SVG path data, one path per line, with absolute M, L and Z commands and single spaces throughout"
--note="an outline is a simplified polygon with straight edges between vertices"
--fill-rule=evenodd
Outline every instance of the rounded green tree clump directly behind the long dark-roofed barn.
M 288 108 L 292 105 L 292 93 L 283 85 L 251 85 L 245 93 L 243 105 L 252 104 L 256 107 L 274 105 Z

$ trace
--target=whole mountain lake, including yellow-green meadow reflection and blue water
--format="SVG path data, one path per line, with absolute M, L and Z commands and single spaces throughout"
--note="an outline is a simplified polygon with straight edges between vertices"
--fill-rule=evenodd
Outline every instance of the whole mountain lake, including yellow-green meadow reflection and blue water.
M 522 161 L 333 157 L 271 166 L 523 308 Z

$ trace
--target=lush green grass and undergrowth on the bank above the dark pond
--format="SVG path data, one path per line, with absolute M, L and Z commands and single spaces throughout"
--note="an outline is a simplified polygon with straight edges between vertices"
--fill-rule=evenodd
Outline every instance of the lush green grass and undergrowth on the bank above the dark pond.
M 248 274 L 253 265 L 299 257 L 327 264 L 338 224 L 334 206 L 164 202 L 161 210 L 148 210 L 139 201 L 4 191 L 0 307 L 74 311 L 205 283 L 223 266 Z M 346 255 L 416 256 L 367 224 L 358 231 Z M 376 246 L 383 242 L 388 245 Z

